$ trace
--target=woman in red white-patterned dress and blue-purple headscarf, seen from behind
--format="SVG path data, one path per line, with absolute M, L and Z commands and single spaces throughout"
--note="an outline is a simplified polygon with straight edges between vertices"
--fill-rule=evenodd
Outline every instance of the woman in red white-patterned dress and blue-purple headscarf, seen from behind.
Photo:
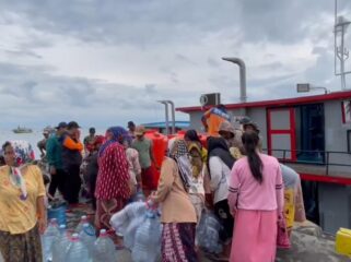
M 110 233 L 110 216 L 120 211 L 130 196 L 128 162 L 121 144 L 126 139 L 128 132 L 124 128 L 107 129 L 106 142 L 100 147 L 97 156 L 95 225 L 97 229 L 105 228 Z

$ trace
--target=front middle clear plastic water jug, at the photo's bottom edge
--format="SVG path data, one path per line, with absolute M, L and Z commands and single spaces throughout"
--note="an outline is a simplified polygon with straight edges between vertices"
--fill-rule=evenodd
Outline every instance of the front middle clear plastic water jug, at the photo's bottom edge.
M 72 235 L 70 245 L 66 254 L 66 262 L 91 262 L 92 259 L 89 255 L 87 248 L 79 239 L 79 235 L 75 233 Z M 107 262 L 107 261 L 106 261 Z

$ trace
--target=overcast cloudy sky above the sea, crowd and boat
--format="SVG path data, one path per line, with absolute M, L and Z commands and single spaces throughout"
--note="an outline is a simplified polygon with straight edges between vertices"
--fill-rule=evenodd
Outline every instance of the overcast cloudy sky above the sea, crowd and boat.
M 212 92 L 236 103 L 224 56 L 245 60 L 249 100 L 296 96 L 299 82 L 338 91 L 332 26 L 332 0 L 0 0 L 0 128 L 157 121 L 157 99 Z

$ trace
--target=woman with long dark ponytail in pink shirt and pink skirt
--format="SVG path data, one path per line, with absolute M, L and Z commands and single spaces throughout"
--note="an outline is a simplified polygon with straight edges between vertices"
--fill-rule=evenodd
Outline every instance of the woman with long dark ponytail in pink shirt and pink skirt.
M 259 153 L 256 132 L 242 136 L 246 157 L 238 159 L 229 182 L 235 216 L 231 262 L 273 262 L 278 214 L 283 210 L 283 182 L 277 158 Z

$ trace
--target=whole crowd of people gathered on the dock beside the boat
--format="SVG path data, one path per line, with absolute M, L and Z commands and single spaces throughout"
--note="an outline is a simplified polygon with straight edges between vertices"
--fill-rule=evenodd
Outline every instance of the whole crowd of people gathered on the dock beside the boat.
M 24 261 L 17 259 L 23 255 L 42 261 L 38 236 L 46 225 L 44 196 L 51 201 L 57 191 L 70 209 L 85 191 L 95 210 L 96 229 L 107 229 L 122 246 L 109 221 L 140 189 L 149 206 L 161 207 L 162 261 L 199 261 L 196 227 L 203 210 L 213 211 L 222 225 L 223 251 L 209 254 L 211 259 L 274 261 L 280 226 L 284 226 L 280 164 L 261 153 L 259 128 L 249 119 L 234 129 L 225 107 L 219 106 L 207 111 L 202 122 L 210 130 L 206 143 L 195 130 L 169 139 L 161 167 L 142 126 L 130 121 L 128 131 L 112 127 L 104 135 L 91 128 L 82 143 L 75 121 L 60 122 L 55 134 L 45 138 L 45 147 L 40 143 L 50 174 L 47 193 L 40 170 L 17 165 L 13 145 L 7 142 L 0 168 L 0 206 L 8 211 L 0 214 L 2 255 L 7 261 Z M 161 175 L 155 182 L 156 170 Z M 19 250 L 22 253 L 14 254 Z

